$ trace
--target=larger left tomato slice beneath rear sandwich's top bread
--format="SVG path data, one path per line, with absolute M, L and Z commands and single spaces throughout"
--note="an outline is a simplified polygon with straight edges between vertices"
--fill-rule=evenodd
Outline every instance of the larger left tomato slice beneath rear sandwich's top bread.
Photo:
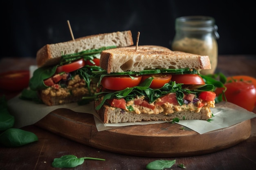
M 72 62 L 70 64 L 65 64 L 63 66 L 58 66 L 56 69 L 56 73 L 61 73 L 61 72 L 65 72 L 65 73 L 70 73 L 72 71 L 76 71 L 79 68 L 82 68 L 83 66 L 85 66 L 85 60 L 80 59 L 80 60 L 76 60 L 75 62 Z

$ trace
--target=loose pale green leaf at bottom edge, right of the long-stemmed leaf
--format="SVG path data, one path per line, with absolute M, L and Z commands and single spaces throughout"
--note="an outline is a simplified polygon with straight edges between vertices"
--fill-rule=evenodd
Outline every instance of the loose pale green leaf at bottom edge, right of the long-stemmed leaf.
M 164 168 L 171 168 L 175 164 L 176 160 L 156 160 L 148 163 L 147 170 L 163 170 Z

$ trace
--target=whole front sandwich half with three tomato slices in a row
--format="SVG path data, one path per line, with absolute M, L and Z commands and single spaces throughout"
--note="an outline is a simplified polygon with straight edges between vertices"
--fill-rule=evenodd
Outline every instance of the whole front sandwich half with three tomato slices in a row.
M 212 117 L 216 94 L 200 70 L 208 56 L 135 46 L 102 51 L 95 109 L 103 123 Z

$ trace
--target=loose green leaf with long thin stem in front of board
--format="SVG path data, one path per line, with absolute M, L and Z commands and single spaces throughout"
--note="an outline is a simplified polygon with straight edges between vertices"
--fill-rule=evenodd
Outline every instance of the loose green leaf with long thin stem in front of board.
M 54 168 L 74 168 L 76 166 L 83 164 L 85 159 L 105 161 L 105 159 L 99 159 L 99 158 L 91 158 L 91 157 L 77 158 L 75 155 L 65 155 L 60 158 L 55 158 L 54 161 L 52 162 L 52 166 Z

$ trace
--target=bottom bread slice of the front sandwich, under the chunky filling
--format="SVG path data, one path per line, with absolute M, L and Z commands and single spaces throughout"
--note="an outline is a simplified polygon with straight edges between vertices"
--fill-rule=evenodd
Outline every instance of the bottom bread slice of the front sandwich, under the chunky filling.
M 95 101 L 94 104 L 95 107 L 98 106 L 99 101 Z M 185 118 L 186 120 L 208 120 L 209 118 L 211 118 L 211 110 L 207 106 L 202 107 L 199 113 L 187 110 L 180 112 L 176 111 L 168 115 L 165 115 L 163 113 L 150 115 L 147 113 L 136 114 L 134 112 L 127 112 L 125 110 L 122 110 L 121 108 L 115 108 L 106 104 L 104 104 L 99 110 L 96 111 L 104 124 L 157 120 L 172 121 L 174 118 L 178 118 L 180 120 L 182 120 L 183 118 Z

